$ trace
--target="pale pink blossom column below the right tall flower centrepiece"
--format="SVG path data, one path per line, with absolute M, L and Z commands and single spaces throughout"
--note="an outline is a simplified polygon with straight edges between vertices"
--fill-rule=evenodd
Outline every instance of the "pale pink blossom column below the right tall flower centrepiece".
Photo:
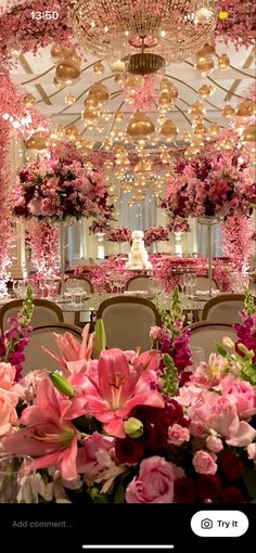
M 244 272 L 252 252 L 252 224 L 245 217 L 228 217 L 221 223 L 222 250 Z

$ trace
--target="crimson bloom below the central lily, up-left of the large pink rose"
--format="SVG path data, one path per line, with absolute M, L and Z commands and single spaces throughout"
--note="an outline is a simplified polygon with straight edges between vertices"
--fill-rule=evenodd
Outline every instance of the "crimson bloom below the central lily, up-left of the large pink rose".
M 103 436 L 94 432 L 84 440 L 84 448 L 78 450 L 77 471 L 87 475 L 97 474 L 102 466 L 100 465 L 97 453 L 100 450 L 110 451 L 113 448 L 114 438 Z

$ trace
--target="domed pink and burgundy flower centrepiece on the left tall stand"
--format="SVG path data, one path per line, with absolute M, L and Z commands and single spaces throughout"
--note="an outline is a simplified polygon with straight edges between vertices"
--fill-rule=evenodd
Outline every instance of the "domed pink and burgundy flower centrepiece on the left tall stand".
M 50 222 L 98 216 L 108 220 L 113 206 L 107 198 L 105 181 L 97 170 L 86 170 L 82 159 L 44 158 L 20 172 L 13 215 Z

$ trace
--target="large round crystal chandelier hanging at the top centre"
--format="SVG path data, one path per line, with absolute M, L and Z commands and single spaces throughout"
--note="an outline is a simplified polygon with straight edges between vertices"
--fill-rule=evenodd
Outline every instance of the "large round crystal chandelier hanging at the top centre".
M 86 50 L 146 75 L 210 41 L 215 0 L 72 0 L 69 24 Z

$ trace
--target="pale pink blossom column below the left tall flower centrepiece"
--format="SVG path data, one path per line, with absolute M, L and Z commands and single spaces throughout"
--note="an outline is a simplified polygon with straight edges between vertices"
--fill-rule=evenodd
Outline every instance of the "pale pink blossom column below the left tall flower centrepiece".
M 54 267 L 60 265 L 60 229 L 48 221 L 31 219 L 27 230 L 31 262 L 37 270 L 37 276 L 52 276 Z

